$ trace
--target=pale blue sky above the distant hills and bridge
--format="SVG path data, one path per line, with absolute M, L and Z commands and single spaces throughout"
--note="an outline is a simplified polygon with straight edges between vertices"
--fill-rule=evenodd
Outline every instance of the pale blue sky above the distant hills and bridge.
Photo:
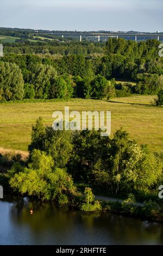
M 1 0 L 0 27 L 163 31 L 162 0 Z

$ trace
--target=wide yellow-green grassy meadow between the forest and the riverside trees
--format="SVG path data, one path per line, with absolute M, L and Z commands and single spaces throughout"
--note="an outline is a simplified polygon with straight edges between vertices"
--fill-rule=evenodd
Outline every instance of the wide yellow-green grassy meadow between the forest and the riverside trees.
M 111 101 L 71 99 L 38 100 L 35 102 L 10 102 L 0 104 L 0 147 L 27 150 L 32 125 L 42 117 L 52 125 L 52 113 L 64 111 L 111 111 L 111 134 L 123 127 L 129 137 L 141 144 L 148 144 L 152 151 L 163 151 L 163 108 L 151 105 L 155 96 L 134 95 Z

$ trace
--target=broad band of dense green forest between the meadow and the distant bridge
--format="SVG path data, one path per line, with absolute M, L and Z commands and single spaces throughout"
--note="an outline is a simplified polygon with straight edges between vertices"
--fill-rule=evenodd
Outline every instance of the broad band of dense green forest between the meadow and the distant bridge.
M 4 44 L 0 101 L 158 94 L 163 88 L 158 46 L 156 40 L 136 43 L 121 38 L 109 39 L 105 45 L 55 41 Z M 117 84 L 116 79 L 129 82 Z

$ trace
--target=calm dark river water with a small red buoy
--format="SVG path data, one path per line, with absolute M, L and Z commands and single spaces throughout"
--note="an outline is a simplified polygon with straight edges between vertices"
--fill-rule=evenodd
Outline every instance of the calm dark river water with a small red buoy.
M 162 224 L 114 214 L 83 214 L 27 198 L 0 200 L 0 245 L 161 244 Z

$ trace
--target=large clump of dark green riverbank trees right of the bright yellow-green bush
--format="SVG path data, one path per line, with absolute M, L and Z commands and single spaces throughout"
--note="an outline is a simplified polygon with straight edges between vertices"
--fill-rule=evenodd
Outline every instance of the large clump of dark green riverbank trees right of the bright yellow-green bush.
M 162 163 L 118 130 L 114 138 L 98 131 L 82 131 L 73 139 L 73 156 L 68 169 L 73 178 L 111 194 L 148 194 L 161 178 Z

